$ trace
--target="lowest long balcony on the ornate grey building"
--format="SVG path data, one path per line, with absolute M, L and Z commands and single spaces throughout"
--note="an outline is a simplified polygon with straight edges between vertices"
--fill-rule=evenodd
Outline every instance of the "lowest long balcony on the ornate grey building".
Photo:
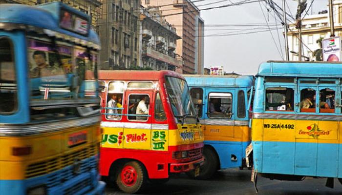
M 182 61 L 172 58 L 167 54 L 163 54 L 161 52 L 158 52 L 154 50 L 152 47 L 143 47 L 143 52 L 142 52 L 142 57 L 143 58 L 153 58 L 158 61 L 162 61 L 165 63 L 168 63 L 170 65 L 176 66 L 176 67 L 181 67 L 182 66 Z

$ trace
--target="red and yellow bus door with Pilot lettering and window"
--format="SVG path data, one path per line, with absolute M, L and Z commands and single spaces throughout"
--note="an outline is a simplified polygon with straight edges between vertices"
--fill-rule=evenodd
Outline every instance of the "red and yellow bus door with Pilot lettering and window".
M 150 150 L 152 97 L 153 90 L 126 90 L 123 112 L 128 122 L 124 127 L 124 148 Z

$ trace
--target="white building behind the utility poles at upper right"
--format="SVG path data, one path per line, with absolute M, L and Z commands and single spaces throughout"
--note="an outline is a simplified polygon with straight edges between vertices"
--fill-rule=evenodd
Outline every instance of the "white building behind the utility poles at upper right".
M 314 51 L 321 48 L 317 43 L 319 39 L 327 39 L 330 37 L 330 17 L 326 10 L 319 14 L 304 17 L 301 22 L 301 39 L 302 39 L 302 60 L 316 60 Z M 335 36 L 342 37 L 342 0 L 333 1 L 333 16 Z M 289 59 L 299 60 L 299 35 L 295 22 L 289 25 L 288 31 L 289 42 Z

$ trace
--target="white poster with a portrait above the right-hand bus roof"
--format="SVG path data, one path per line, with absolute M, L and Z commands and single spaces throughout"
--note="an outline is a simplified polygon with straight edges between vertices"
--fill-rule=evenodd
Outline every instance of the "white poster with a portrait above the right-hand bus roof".
M 332 37 L 322 40 L 323 61 L 341 61 L 341 38 Z

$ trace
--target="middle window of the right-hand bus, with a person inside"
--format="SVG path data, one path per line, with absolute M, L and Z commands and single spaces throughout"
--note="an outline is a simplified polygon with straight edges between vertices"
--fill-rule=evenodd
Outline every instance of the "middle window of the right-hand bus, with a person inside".
M 305 88 L 300 90 L 300 112 L 314 113 L 316 104 L 316 90 Z

